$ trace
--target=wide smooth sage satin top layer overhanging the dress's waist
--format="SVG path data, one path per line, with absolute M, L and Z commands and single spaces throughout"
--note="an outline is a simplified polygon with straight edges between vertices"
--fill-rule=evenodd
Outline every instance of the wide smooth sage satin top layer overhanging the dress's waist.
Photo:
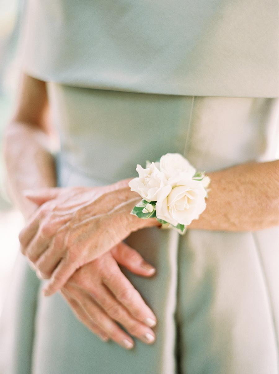
M 277 0 L 28 0 L 41 80 L 171 95 L 278 97 Z

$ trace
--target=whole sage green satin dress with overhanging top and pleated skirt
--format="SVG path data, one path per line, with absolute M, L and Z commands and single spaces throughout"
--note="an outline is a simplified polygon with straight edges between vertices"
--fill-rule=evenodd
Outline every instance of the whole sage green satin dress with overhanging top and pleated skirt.
M 199 170 L 278 158 L 277 3 L 29 2 L 23 70 L 47 82 L 58 186 L 136 176 L 179 152 Z M 153 309 L 156 342 L 103 343 L 20 254 L 1 316 L 1 374 L 277 374 L 279 227 L 148 228 L 123 269 Z

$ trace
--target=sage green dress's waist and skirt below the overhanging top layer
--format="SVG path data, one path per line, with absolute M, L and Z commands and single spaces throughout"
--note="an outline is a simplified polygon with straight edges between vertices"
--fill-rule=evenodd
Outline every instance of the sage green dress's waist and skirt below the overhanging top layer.
M 276 159 L 279 102 L 155 95 L 48 83 L 61 151 L 58 186 L 136 176 L 167 152 L 199 170 Z M 157 316 L 156 342 L 126 351 L 81 324 L 60 294 L 44 298 L 19 255 L 1 316 L 1 374 L 277 374 L 279 227 L 257 232 L 148 228 L 126 242 L 153 264 L 123 272 Z M 3 353 L 3 354 L 2 354 Z

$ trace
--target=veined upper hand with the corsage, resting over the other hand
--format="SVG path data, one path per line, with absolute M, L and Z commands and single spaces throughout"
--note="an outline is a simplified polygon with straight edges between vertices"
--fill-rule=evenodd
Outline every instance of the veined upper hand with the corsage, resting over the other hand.
M 44 278 L 45 295 L 74 272 L 109 251 L 133 231 L 159 226 L 156 218 L 129 214 L 141 197 L 129 180 L 101 187 L 40 188 L 26 197 L 39 205 L 21 230 L 21 251 Z

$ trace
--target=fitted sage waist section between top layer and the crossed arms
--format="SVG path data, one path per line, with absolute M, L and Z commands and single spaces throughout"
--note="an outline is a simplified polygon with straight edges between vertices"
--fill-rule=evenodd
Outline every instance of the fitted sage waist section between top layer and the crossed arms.
M 278 157 L 279 98 L 158 95 L 49 82 L 60 135 L 63 185 L 110 184 L 136 177 L 136 164 L 166 152 L 198 170 Z

